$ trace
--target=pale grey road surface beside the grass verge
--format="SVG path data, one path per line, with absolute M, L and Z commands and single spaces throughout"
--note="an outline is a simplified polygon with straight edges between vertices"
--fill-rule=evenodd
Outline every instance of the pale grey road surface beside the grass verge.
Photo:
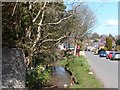
M 104 88 L 118 88 L 118 61 L 99 57 L 92 52 L 86 52 L 86 57 L 96 77 L 103 83 Z

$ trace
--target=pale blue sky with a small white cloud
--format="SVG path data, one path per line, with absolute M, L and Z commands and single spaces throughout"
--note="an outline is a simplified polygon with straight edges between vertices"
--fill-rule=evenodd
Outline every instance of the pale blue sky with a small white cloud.
M 71 9 L 72 1 L 80 3 L 80 0 L 65 0 L 67 10 Z M 118 35 L 118 1 L 119 0 L 85 0 L 84 3 L 94 12 L 96 23 L 92 33 L 102 35 Z

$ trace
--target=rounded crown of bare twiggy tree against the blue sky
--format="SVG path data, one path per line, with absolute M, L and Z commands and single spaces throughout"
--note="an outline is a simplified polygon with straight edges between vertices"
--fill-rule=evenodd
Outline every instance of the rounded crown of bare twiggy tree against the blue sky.
M 78 6 L 75 11 L 76 17 L 76 37 L 84 38 L 85 34 L 87 34 L 95 25 L 95 15 L 90 10 L 90 8 L 84 4 Z

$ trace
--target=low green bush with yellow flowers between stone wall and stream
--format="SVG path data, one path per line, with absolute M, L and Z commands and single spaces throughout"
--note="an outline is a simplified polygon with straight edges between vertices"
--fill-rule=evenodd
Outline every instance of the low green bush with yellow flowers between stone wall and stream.
M 50 70 L 46 70 L 42 65 L 27 71 L 26 86 L 38 88 L 48 85 L 50 82 Z

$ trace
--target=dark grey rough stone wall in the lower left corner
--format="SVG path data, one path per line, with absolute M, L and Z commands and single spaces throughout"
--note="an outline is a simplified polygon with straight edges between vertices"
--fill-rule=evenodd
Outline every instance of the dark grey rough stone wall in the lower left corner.
M 25 87 L 26 64 L 22 49 L 2 49 L 2 85 L 3 88 Z

